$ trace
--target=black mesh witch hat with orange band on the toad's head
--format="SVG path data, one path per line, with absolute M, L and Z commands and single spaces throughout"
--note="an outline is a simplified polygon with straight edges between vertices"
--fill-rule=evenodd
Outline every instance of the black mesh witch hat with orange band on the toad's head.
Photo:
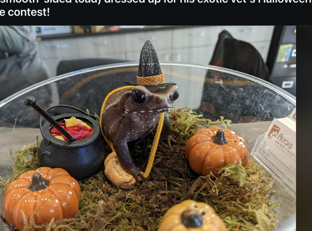
M 142 85 L 145 87 L 177 85 L 176 83 L 165 83 L 164 73 L 161 71 L 157 53 L 149 40 L 144 43 L 141 50 L 137 82 L 126 82 L 126 84 L 132 86 Z

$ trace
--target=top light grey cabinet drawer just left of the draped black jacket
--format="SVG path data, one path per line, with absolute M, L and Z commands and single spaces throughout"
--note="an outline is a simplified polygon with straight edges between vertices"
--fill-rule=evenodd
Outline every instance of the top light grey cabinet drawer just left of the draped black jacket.
M 176 29 L 172 32 L 172 48 L 216 45 L 219 33 L 219 26 Z

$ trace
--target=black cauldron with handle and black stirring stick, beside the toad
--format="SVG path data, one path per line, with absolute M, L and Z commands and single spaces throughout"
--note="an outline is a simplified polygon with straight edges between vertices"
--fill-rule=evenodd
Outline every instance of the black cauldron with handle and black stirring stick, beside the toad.
M 25 104 L 32 106 L 38 112 L 41 111 L 42 108 L 36 103 L 35 99 L 31 98 L 32 101 L 29 103 L 29 98 L 30 97 L 27 97 L 25 99 Z M 55 116 L 53 119 L 49 115 L 47 116 L 46 111 L 56 107 L 71 108 L 80 111 L 82 114 L 62 114 Z M 38 151 L 41 166 L 62 168 L 77 180 L 87 178 L 94 174 L 99 169 L 100 165 L 103 164 L 105 158 L 105 140 L 101 133 L 100 125 L 95 120 L 95 116 L 91 116 L 78 108 L 68 105 L 52 106 L 47 108 L 44 112 L 39 113 L 41 114 L 40 131 L 43 137 Z M 41 126 L 42 115 L 45 118 L 49 117 L 48 120 L 53 124 L 55 124 L 54 121 L 56 121 L 57 125 L 59 122 L 64 122 L 64 119 L 69 119 L 74 116 L 87 123 L 94 131 L 89 137 L 83 140 L 60 140 L 51 134 L 50 130 L 53 125 L 51 125 L 49 121 L 46 121 L 44 125 Z

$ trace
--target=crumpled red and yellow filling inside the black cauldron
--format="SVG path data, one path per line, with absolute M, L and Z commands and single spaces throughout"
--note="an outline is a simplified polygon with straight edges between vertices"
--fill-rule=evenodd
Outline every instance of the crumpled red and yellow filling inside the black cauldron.
M 62 128 L 65 129 L 65 131 L 68 132 L 71 137 L 74 138 L 74 140 L 83 140 L 87 137 L 89 137 L 92 132 L 93 128 L 86 128 L 85 126 L 81 124 L 77 124 L 71 127 L 66 127 L 66 123 L 59 123 Z M 56 137 L 56 136 L 62 136 L 65 141 L 69 141 L 64 135 L 61 134 L 55 127 L 51 129 L 51 134 Z

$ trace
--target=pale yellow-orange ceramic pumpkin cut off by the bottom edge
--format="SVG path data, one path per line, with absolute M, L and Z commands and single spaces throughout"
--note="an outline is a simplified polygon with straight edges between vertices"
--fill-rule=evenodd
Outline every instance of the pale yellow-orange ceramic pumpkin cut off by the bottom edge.
M 185 200 L 163 216 L 158 231 L 227 231 L 222 219 L 204 202 Z

